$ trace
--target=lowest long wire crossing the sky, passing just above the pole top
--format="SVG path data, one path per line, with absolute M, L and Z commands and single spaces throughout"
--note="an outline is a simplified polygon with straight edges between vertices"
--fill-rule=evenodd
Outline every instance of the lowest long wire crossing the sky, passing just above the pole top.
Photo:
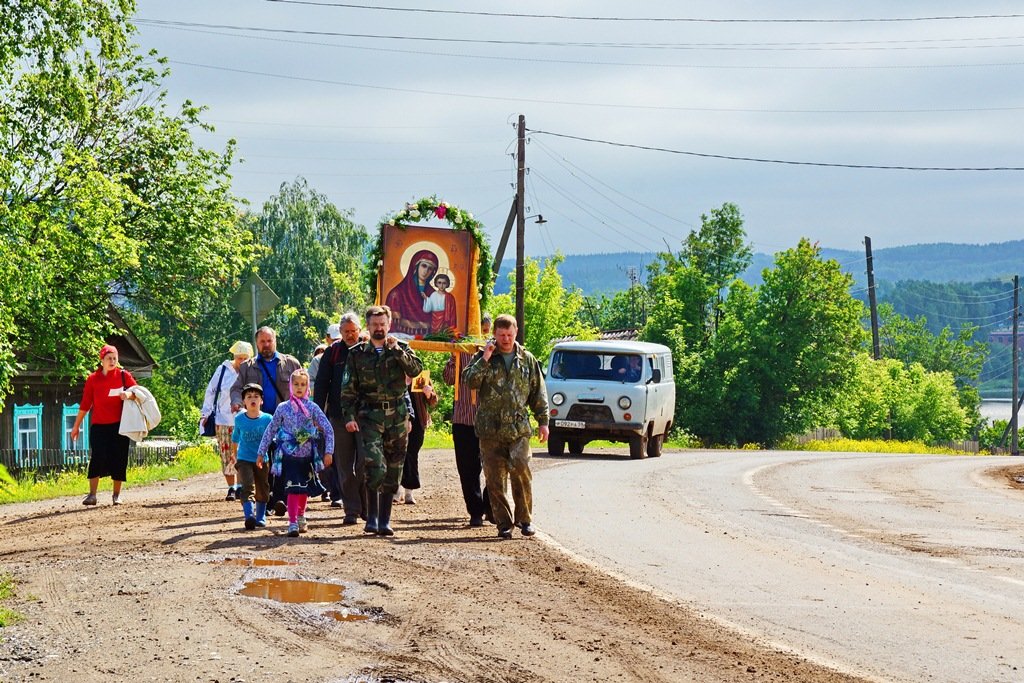
M 1024 106 L 973 106 L 973 108 L 953 108 L 953 109 L 905 109 L 905 110 L 770 110 L 770 109 L 748 109 L 748 108 L 715 108 L 715 106 L 665 106 L 665 105 L 654 105 L 654 104 L 630 104 L 624 102 L 577 102 L 569 100 L 560 99 L 543 99 L 538 97 L 515 97 L 510 95 L 481 95 L 476 93 L 466 93 L 466 92 L 443 92 L 439 90 L 426 90 L 423 88 L 398 88 L 393 86 L 384 85 L 373 85 L 370 83 L 354 83 L 351 81 L 335 81 L 333 79 L 326 78 L 311 78 L 308 76 L 290 76 L 288 74 L 271 74 L 268 72 L 259 72 L 249 69 L 234 69 L 231 67 L 216 67 L 213 65 L 202 65 L 195 61 L 180 61 L 177 59 L 168 59 L 169 63 L 179 65 L 182 67 L 195 67 L 197 69 L 210 69 L 213 71 L 222 71 L 231 74 L 245 74 L 247 76 L 260 76 L 264 78 L 276 78 L 286 81 L 297 81 L 304 83 L 321 83 L 324 85 L 341 85 L 349 88 L 365 88 L 368 90 L 382 90 L 386 92 L 408 92 L 418 95 L 437 95 L 440 97 L 462 97 L 466 99 L 481 99 L 487 101 L 500 101 L 500 102 L 526 102 L 532 104 L 560 104 L 565 106 L 594 106 L 594 108 L 605 108 L 605 109 L 616 109 L 616 110 L 644 110 L 644 111 L 660 111 L 660 112 L 711 112 L 718 114 L 725 113 L 736 113 L 736 114 L 951 114 L 951 113 L 967 113 L 967 112 L 1016 112 L 1024 109 Z M 555 135 L 559 137 L 566 137 L 571 139 L 585 140 L 590 142 L 604 142 L 605 144 L 620 144 L 620 146 L 639 146 L 639 145 L 628 145 L 615 142 L 606 142 L 604 140 L 592 140 L 584 137 L 573 137 L 571 135 L 559 135 L 558 133 L 551 133 L 547 131 L 530 131 L 539 134 L 545 135 Z M 317 141 L 317 140 L 310 140 Z M 370 144 L 371 142 L 367 142 Z M 402 144 L 402 142 L 394 142 L 394 144 Z M 643 148 L 643 147 L 641 147 Z M 654 148 L 654 147 L 650 147 Z M 656 148 L 655 148 L 656 150 Z M 673 152 L 671 150 L 656 150 L 659 152 Z M 694 153 L 676 152 L 675 154 L 692 154 L 697 157 L 715 157 L 716 155 L 697 155 Z M 719 157 L 720 159 L 734 159 L 732 157 Z M 767 161 L 758 159 L 745 159 L 743 161 Z M 806 162 L 774 162 L 774 163 L 790 163 L 790 164 L 803 164 L 807 166 L 846 166 L 848 168 L 904 168 L 904 167 L 869 167 L 869 166 L 852 166 L 845 164 L 808 164 Z M 1019 168 L 1012 169 L 912 169 L 912 170 L 1024 170 Z

